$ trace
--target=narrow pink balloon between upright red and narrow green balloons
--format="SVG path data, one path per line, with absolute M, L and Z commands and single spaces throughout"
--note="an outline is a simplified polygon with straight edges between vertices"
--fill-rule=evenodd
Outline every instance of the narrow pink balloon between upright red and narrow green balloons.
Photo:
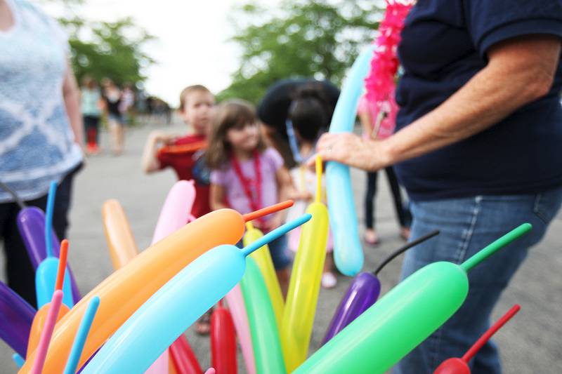
M 256 374 L 254 347 L 251 345 L 248 315 L 246 314 L 246 306 L 244 305 L 240 283 L 226 294 L 226 302 L 228 303 L 230 314 L 233 316 L 236 335 L 238 335 L 240 347 L 242 347 L 242 357 L 244 357 L 244 363 L 246 363 L 246 372 L 248 374 Z

